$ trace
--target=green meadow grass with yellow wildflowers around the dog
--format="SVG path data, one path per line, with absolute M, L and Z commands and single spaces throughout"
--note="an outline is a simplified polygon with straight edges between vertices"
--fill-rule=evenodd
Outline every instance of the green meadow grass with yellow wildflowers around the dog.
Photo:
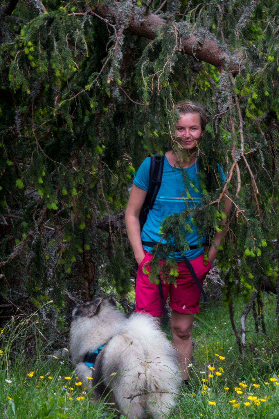
M 230 326 L 228 309 L 220 303 L 210 303 L 207 307 L 200 308 L 195 316 L 200 327 L 193 329 L 193 339 L 197 344 L 189 378 L 190 390 L 181 391 L 177 408 L 168 416 L 169 419 L 216 416 L 242 419 L 261 418 L 264 415 L 279 418 L 279 358 L 277 352 L 271 351 L 278 344 L 275 307 L 275 298 L 265 296 L 264 315 L 270 339 L 260 334 L 247 334 L 247 339 L 253 342 L 257 350 L 255 353 L 251 352 L 247 345 L 244 361 Z M 244 305 L 240 302 L 235 304 L 238 329 L 243 308 Z M 0 355 L 0 417 L 119 417 L 113 404 L 93 402 L 82 386 L 75 385 L 77 380 L 67 360 L 63 362 L 53 357 L 46 360 L 40 350 L 40 341 L 37 341 L 37 352 L 33 360 L 25 360 L 23 347 L 18 347 L 18 355 L 10 358 L 10 348 L 19 336 L 22 338 L 28 334 L 30 326 L 31 321 L 27 324 L 26 320 L 16 326 L 11 323 L 10 328 L 5 328 L 1 336 L 0 349 L 3 353 Z M 246 320 L 246 329 L 254 329 L 251 313 Z M 210 371 L 208 365 L 214 370 Z M 202 374 L 201 371 L 205 373 Z

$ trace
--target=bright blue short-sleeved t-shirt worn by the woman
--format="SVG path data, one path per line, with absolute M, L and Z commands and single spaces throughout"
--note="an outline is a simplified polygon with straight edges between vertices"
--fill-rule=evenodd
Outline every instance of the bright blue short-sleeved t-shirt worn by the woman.
M 134 179 L 134 184 L 144 191 L 148 191 L 149 188 L 149 169 L 150 169 L 150 157 L 147 157 L 141 166 L 139 167 L 136 177 Z M 190 167 L 184 169 L 187 171 L 187 182 L 188 194 L 185 191 L 185 184 L 182 177 L 182 171 L 179 168 L 172 167 L 169 164 L 168 159 L 165 156 L 164 160 L 164 170 L 162 175 L 162 182 L 155 199 L 153 208 L 149 210 L 146 222 L 143 226 L 141 232 L 142 241 L 151 241 L 157 243 L 161 239 L 159 234 L 159 229 L 161 222 L 166 218 L 167 215 L 172 215 L 174 213 L 182 212 L 186 205 L 188 204 L 190 208 L 193 208 L 194 205 L 199 205 L 203 194 L 199 186 L 199 166 L 198 163 L 193 164 Z M 221 180 L 225 181 L 225 174 L 220 169 Z M 192 184 L 194 187 L 188 185 Z M 197 228 L 195 225 L 191 224 L 192 233 L 187 233 L 186 240 L 189 246 L 198 246 L 199 239 L 197 234 Z M 205 243 L 206 236 L 201 238 L 201 243 Z M 161 243 L 166 243 L 165 240 L 161 240 Z M 150 251 L 151 247 L 143 246 L 146 251 Z M 189 259 L 196 259 L 204 252 L 204 248 L 201 249 L 192 249 L 187 252 L 184 252 L 185 256 Z M 175 260 L 177 262 L 183 262 L 183 258 L 180 252 L 174 253 Z

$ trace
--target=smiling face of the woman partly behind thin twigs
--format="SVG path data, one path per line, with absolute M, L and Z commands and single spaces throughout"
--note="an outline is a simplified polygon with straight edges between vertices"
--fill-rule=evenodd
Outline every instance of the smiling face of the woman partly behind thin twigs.
M 200 115 L 192 113 L 180 114 L 175 129 L 177 140 L 184 150 L 194 150 L 204 133 L 204 129 L 200 125 Z

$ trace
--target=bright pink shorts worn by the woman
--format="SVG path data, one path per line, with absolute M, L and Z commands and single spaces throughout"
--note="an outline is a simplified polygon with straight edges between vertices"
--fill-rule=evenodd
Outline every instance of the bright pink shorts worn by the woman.
M 136 311 L 144 311 L 151 316 L 162 316 L 162 304 L 159 293 L 159 287 L 149 282 L 148 275 L 142 271 L 143 264 L 152 259 L 152 255 L 144 251 L 145 257 L 138 265 L 137 282 L 136 282 Z M 211 269 L 211 264 L 207 261 L 205 265 L 203 255 L 190 261 L 196 275 L 201 284 L 205 276 Z M 178 262 L 177 268 L 179 276 L 177 280 L 177 288 L 171 284 L 162 282 L 164 302 L 166 304 L 167 297 L 170 297 L 169 306 L 179 313 L 193 314 L 199 311 L 200 305 L 200 289 L 192 278 L 187 266 L 184 262 Z

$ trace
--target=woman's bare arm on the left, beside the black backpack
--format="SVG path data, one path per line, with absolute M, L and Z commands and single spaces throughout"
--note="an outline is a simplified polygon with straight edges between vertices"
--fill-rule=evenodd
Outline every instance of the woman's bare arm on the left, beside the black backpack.
M 141 244 L 141 228 L 138 217 L 146 195 L 147 191 L 133 184 L 125 211 L 126 230 L 138 265 L 145 256 Z

